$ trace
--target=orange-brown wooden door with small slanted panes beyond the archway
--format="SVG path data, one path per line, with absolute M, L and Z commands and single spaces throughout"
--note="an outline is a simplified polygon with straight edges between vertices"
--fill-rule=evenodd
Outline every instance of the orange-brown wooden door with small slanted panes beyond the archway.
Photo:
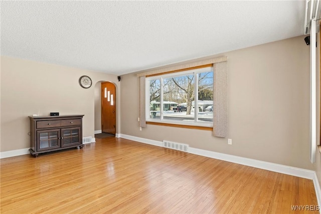
M 101 130 L 116 134 L 116 87 L 110 82 L 101 83 Z

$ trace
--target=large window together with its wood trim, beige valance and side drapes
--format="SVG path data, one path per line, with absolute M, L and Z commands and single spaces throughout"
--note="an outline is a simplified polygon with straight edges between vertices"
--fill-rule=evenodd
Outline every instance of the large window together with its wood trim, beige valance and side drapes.
M 228 58 L 223 56 L 138 73 L 139 126 L 146 127 L 146 124 L 151 124 L 212 130 L 213 136 L 226 137 L 228 135 L 227 60 Z M 177 80 L 178 83 L 180 79 L 190 80 L 190 87 L 186 88 L 188 85 L 174 83 L 174 80 Z M 212 88 L 210 87 L 210 81 L 213 83 Z M 191 88 L 194 90 L 193 93 L 191 90 L 187 90 Z M 175 91 L 173 91 L 174 89 Z M 212 100 L 208 98 L 211 97 L 211 93 L 209 93 L 211 90 L 213 91 Z M 183 99 L 184 96 L 182 95 L 188 96 L 189 92 L 193 96 L 190 97 L 192 100 L 186 100 L 186 106 L 184 105 L 185 102 L 182 101 L 166 100 L 168 99 L 166 96 L 170 95 Z M 204 97 L 203 103 L 200 102 L 201 97 Z M 212 105 L 205 107 L 205 105 L 208 105 L 206 102 L 210 101 L 212 101 Z M 190 103 L 192 103 L 191 106 Z M 167 108 L 170 109 L 166 111 L 164 104 L 168 104 Z M 192 113 L 187 115 L 188 107 L 194 116 L 192 116 Z M 201 115 L 205 113 L 200 112 L 205 111 L 209 111 L 208 115 L 212 112 L 213 116 Z M 185 115 L 174 114 L 180 112 L 185 112 Z

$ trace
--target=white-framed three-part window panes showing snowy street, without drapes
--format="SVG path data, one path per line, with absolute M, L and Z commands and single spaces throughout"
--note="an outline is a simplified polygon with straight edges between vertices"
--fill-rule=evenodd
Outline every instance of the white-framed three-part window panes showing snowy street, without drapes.
M 146 121 L 213 127 L 213 67 L 145 79 Z

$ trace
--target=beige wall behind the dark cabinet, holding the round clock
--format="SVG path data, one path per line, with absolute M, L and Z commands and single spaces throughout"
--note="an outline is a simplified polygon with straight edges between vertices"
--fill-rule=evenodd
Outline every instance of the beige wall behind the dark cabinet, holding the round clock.
M 91 88 L 79 86 L 82 75 L 92 79 Z M 95 84 L 99 81 L 114 82 L 119 89 L 115 75 L 2 56 L 0 151 L 30 148 L 28 116 L 38 109 L 40 115 L 84 114 L 83 137 L 94 137 Z M 118 96 L 118 107 L 119 100 Z M 117 121 L 118 133 L 119 116 Z

